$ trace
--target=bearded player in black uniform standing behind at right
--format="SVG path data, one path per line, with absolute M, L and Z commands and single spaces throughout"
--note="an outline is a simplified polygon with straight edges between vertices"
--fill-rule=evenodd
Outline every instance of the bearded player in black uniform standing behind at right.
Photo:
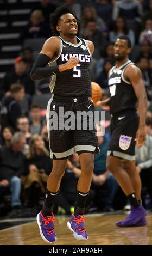
M 147 214 L 141 205 L 141 179 L 135 167 L 135 143 L 140 147 L 145 142 L 147 95 L 140 69 L 128 59 L 130 51 L 130 39 L 120 36 L 114 46 L 116 66 L 109 71 L 111 97 L 97 102 L 102 106 L 110 101 L 112 134 L 106 165 L 131 204 L 130 215 L 116 223 L 119 227 L 146 225 Z M 137 101 L 140 118 L 136 113 Z

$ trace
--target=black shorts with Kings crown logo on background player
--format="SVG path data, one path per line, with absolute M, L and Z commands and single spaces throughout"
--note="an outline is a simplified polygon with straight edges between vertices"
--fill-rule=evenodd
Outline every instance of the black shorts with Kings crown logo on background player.
M 135 138 L 139 117 L 136 111 L 123 111 L 111 119 L 111 139 L 107 156 L 135 160 Z

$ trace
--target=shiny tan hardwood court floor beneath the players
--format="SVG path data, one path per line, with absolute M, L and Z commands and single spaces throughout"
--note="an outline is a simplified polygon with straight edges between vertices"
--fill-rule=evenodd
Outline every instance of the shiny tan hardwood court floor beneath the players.
M 94 214 L 86 216 L 87 241 L 73 237 L 66 223 L 68 217 L 58 217 L 55 225 L 58 241 L 53 245 L 152 245 L 152 214 L 145 227 L 118 228 L 115 222 L 125 215 Z M 43 241 L 36 221 L 0 231 L 0 245 L 50 245 Z

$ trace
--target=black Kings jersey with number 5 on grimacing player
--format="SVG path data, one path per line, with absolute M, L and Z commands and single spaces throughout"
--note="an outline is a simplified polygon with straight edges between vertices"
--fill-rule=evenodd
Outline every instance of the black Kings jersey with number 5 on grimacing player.
M 66 63 L 72 56 L 79 58 L 79 64 L 52 76 L 50 92 L 59 96 L 91 96 L 89 66 L 91 53 L 84 39 L 77 38 L 78 44 L 63 40 L 60 36 L 60 52 L 49 66 Z

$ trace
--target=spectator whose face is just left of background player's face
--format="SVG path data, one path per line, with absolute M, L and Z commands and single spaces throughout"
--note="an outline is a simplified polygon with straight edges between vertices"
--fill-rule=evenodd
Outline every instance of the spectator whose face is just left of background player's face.
M 105 50 L 100 53 L 101 58 L 96 63 L 96 76 L 103 71 L 104 60 L 105 58 L 113 58 L 113 42 L 108 42 Z

